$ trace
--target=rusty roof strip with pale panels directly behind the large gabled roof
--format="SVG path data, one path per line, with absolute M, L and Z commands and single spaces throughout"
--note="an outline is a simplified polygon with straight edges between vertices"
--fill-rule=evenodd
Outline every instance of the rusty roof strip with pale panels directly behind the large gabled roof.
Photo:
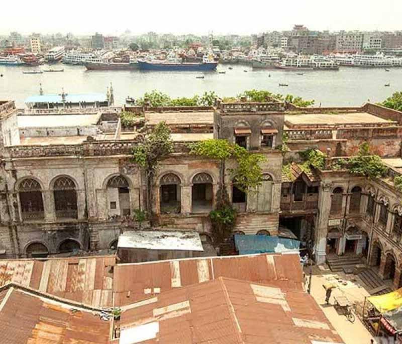
M 303 271 L 295 254 L 208 257 L 122 264 L 115 267 L 115 306 L 218 277 L 270 283 L 303 290 Z

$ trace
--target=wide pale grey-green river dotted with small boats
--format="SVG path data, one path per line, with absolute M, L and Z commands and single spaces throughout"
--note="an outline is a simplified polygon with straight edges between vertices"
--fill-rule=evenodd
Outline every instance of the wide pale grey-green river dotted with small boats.
M 218 65 L 217 72 L 158 71 L 87 71 L 83 66 L 52 65 L 64 72 L 23 74 L 23 70 L 48 69 L 48 66 L 0 66 L 0 100 L 15 100 L 24 107 L 24 100 L 39 94 L 39 84 L 45 93 L 106 93 L 113 83 L 115 104 L 122 105 L 130 95 L 138 98 L 146 91 L 158 89 L 171 97 L 192 96 L 214 90 L 220 96 L 233 96 L 247 89 L 266 89 L 273 93 L 293 94 L 315 99 L 322 106 L 359 106 L 368 99 L 377 102 L 402 90 L 402 68 L 360 69 L 341 67 L 339 71 L 253 70 L 251 67 Z M 245 72 L 245 70 L 247 72 Z M 268 76 L 270 74 L 270 77 Z M 204 75 L 204 79 L 196 76 Z M 288 84 L 287 87 L 279 83 Z M 384 84 L 390 84 L 385 87 Z

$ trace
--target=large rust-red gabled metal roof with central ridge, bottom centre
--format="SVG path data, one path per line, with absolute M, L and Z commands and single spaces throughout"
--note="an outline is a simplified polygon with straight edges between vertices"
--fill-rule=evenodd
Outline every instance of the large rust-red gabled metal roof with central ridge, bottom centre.
M 162 292 L 121 315 L 121 344 L 312 340 L 343 343 L 310 295 L 222 277 Z

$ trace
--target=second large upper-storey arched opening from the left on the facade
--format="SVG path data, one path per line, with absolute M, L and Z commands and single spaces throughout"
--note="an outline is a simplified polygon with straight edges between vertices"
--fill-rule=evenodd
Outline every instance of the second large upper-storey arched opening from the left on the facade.
M 77 192 L 69 177 L 59 177 L 53 184 L 56 218 L 78 218 Z

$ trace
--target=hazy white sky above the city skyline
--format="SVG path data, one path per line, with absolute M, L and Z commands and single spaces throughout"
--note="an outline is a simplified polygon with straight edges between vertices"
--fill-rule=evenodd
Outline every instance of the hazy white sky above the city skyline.
M 402 0 L 4 0 L 0 14 L 0 34 L 402 30 Z

